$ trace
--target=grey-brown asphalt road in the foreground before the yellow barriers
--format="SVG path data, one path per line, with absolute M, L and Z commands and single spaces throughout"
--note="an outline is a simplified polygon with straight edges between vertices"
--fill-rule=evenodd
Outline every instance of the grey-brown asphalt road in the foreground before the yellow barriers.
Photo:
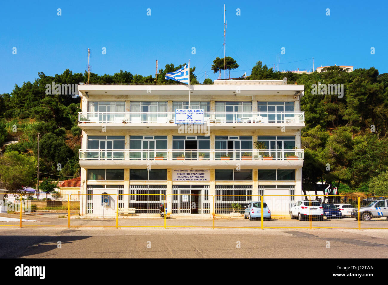
M 0 227 L 0 257 L 387 258 L 388 230 Z

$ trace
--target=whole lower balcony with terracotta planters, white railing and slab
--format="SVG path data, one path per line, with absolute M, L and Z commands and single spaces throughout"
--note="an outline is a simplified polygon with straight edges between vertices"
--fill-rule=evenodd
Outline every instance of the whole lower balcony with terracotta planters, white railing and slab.
M 292 150 L 79 150 L 85 168 L 301 168 L 303 149 Z M 98 161 L 98 162 L 97 162 Z

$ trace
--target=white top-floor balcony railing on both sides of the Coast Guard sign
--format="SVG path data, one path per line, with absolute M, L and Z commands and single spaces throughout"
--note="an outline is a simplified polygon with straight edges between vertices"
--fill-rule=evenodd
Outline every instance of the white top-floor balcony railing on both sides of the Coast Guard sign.
M 175 112 L 80 112 L 81 123 L 168 124 L 175 122 Z M 208 123 L 304 123 L 305 112 L 205 112 Z

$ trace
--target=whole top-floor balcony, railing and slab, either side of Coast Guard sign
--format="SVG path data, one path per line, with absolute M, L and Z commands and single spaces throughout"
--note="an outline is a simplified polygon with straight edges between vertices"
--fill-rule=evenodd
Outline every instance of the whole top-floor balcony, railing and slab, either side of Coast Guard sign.
M 175 112 L 80 112 L 78 121 L 81 128 L 100 128 L 109 124 L 111 128 L 158 128 L 176 127 Z M 305 126 L 304 112 L 205 112 L 204 122 L 218 128 L 257 128 L 274 126 Z

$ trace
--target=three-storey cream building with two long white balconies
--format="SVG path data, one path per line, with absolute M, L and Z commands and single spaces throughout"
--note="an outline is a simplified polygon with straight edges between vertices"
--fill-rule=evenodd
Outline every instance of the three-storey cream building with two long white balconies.
M 189 104 L 182 84 L 78 85 L 81 215 L 152 216 L 166 200 L 172 215 L 205 217 L 241 211 L 258 195 L 283 195 L 264 200 L 288 214 L 302 195 L 303 90 L 221 80 L 190 85 Z M 203 109 L 204 123 L 176 124 L 176 109 Z

